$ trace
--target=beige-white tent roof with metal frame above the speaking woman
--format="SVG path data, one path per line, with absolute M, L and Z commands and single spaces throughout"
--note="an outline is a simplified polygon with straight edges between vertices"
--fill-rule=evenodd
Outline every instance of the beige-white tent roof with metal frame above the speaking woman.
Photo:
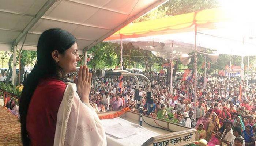
M 40 34 L 62 28 L 75 35 L 80 53 L 168 0 L 7 0 L 0 5 L 0 50 L 36 50 Z

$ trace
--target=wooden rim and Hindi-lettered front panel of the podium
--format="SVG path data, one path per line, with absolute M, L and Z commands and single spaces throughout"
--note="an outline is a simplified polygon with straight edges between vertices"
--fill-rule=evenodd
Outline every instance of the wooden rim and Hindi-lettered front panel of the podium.
M 99 116 L 107 115 L 107 114 L 112 114 L 118 111 L 113 111 L 113 112 L 104 112 L 104 113 L 99 113 Z M 126 112 L 124 115 L 121 115 L 120 118 L 127 120 L 131 123 L 138 124 L 139 125 L 139 114 L 135 112 Z M 152 117 L 143 115 L 143 119 L 150 125 L 155 126 L 149 126 L 143 121 L 142 127 L 146 128 L 147 130 L 153 131 L 155 133 L 158 133 L 158 136 L 151 137 L 147 140 L 144 140 L 142 143 L 142 146 L 184 146 L 189 143 L 195 142 L 196 138 L 196 130 L 193 128 L 188 128 L 185 126 L 181 126 L 179 124 L 174 124 L 171 122 L 167 122 L 165 120 L 160 120 L 160 119 L 155 119 L 156 122 L 169 129 L 167 130 L 162 130 L 158 126 Z M 108 135 L 107 135 L 108 136 Z

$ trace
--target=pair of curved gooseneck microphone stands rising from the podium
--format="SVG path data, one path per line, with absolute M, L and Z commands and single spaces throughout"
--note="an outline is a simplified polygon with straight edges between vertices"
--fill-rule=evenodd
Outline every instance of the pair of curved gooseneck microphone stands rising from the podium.
M 121 72 L 123 76 L 133 76 L 133 77 L 135 78 L 135 80 L 136 80 L 136 83 L 137 83 L 136 88 L 137 88 L 138 92 L 139 92 L 139 80 L 138 80 L 138 78 L 137 78 L 136 76 L 140 76 L 140 77 L 145 78 L 146 81 L 147 81 L 147 83 L 148 83 L 148 86 L 149 86 L 149 87 L 148 87 L 149 92 L 152 92 L 150 80 L 149 80 L 146 76 L 144 76 L 143 74 L 131 73 L 131 72 L 127 71 L 127 70 L 113 70 L 113 72 Z M 134 94 L 135 94 L 135 93 L 134 93 Z M 151 93 L 150 93 L 150 95 L 151 95 Z M 137 95 L 135 95 L 135 96 L 137 96 Z M 139 124 L 140 124 L 140 126 L 142 126 L 143 111 L 146 111 L 146 112 L 147 112 L 147 111 L 149 111 L 149 110 L 144 110 L 144 109 L 141 109 L 141 108 L 140 108 L 140 105 L 141 105 L 141 98 L 139 99 L 139 97 L 136 97 L 135 100 L 137 100 L 137 107 L 136 107 L 135 109 L 139 110 L 139 115 L 140 115 L 140 116 L 139 116 L 139 119 L 140 119 Z M 150 107 L 153 108 L 153 104 L 151 104 Z M 149 108 L 148 108 L 148 109 L 149 109 Z

